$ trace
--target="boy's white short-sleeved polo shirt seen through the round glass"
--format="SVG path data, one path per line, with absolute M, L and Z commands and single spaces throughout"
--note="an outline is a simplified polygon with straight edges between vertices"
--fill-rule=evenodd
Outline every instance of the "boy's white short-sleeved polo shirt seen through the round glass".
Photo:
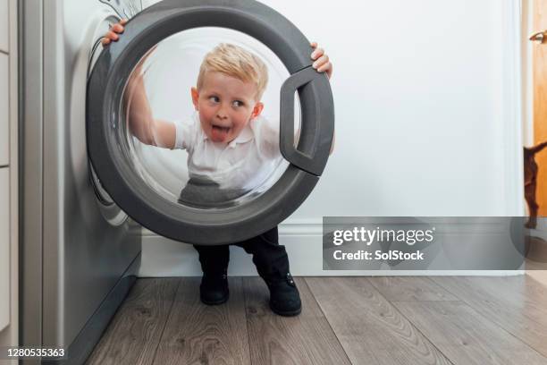
M 222 189 L 254 190 L 282 161 L 279 123 L 262 116 L 251 120 L 228 144 L 209 140 L 198 113 L 175 127 L 175 149 L 186 149 L 189 154 L 189 177 L 211 179 Z

